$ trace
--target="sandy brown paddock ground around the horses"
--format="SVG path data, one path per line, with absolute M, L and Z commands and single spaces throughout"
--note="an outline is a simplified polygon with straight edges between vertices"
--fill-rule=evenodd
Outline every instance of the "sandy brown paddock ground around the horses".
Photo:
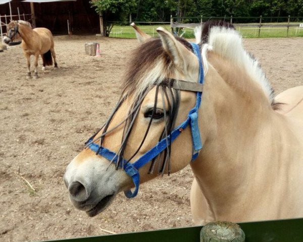
M 101 57 L 85 55 L 88 41 L 100 43 Z M 303 84 L 303 38 L 245 39 L 244 44 L 260 59 L 277 93 Z M 25 78 L 20 45 L 0 53 L 0 241 L 194 225 L 189 167 L 142 185 L 134 199 L 118 195 L 93 218 L 68 199 L 65 168 L 114 107 L 125 61 L 136 46 L 134 39 L 57 36 L 59 69 L 48 67 L 37 80 Z

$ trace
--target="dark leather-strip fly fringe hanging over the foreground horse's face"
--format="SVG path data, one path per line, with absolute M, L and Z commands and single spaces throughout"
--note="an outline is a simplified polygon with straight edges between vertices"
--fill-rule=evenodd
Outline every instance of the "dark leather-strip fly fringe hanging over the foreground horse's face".
M 151 88 L 153 88 L 153 87 L 151 87 Z M 110 117 L 107 120 L 107 122 L 105 123 L 105 125 L 102 128 L 100 128 L 92 137 L 90 137 L 91 139 L 93 139 L 91 141 L 91 143 L 99 140 L 100 148 L 96 152 L 96 154 L 98 154 L 106 135 L 109 134 L 110 132 L 114 131 L 116 128 L 121 126 L 123 123 L 125 123 L 122 140 L 121 140 L 121 146 L 120 146 L 119 151 L 116 153 L 116 156 L 114 157 L 114 158 L 117 158 L 117 156 L 118 156 L 117 162 L 116 162 L 116 169 L 118 169 L 119 167 L 123 167 L 123 165 L 124 165 L 124 164 L 122 164 L 122 162 L 124 161 L 124 152 L 125 152 L 126 145 L 127 145 L 128 139 L 130 137 L 131 131 L 133 129 L 135 119 L 139 113 L 141 104 L 142 104 L 146 94 L 151 90 L 151 88 L 144 90 L 138 97 L 136 97 L 133 104 L 131 105 L 131 107 L 129 109 L 129 112 L 128 112 L 128 115 L 126 116 L 126 118 L 124 118 L 117 126 L 108 130 L 109 125 L 110 125 L 113 117 L 115 116 L 115 113 L 117 112 L 117 110 L 120 108 L 121 104 L 126 99 L 126 96 L 121 96 L 120 100 L 118 101 L 118 104 L 114 108 L 112 114 L 110 115 Z M 161 141 L 162 139 L 166 139 L 166 142 L 168 145 L 167 145 L 167 148 L 162 153 L 160 153 L 157 157 L 155 157 L 153 160 L 151 160 L 151 164 L 150 164 L 148 173 L 154 173 L 155 166 L 158 163 L 158 174 L 161 173 L 163 176 L 166 168 L 167 168 L 168 174 L 170 174 L 170 171 L 171 171 L 171 168 L 170 168 L 171 167 L 170 166 L 170 155 L 171 155 L 170 137 L 171 137 L 171 132 L 175 127 L 176 117 L 177 117 L 178 109 L 179 109 L 179 105 L 180 105 L 180 91 L 179 90 L 175 90 L 171 87 L 162 86 L 161 84 L 156 86 L 154 108 L 150 115 L 149 123 L 146 128 L 145 134 L 144 134 L 143 139 L 141 140 L 140 144 L 138 145 L 136 151 L 131 155 L 131 157 L 128 160 L 126 160 L 126 162 L 130 162 L 136 156 L 136 154 L 139 152 L 142 145 L 144 144 L 144 141 L 147 137 L 150 126 L 153 122 L 154 115 L 157 112 L 157 102 L 158 102 L 159 95 L 162 96 L 162 102 L 163 102 L 163 107 L 164 107 L 163 118 L 164 118 L 164 122 L 165 122 L 165 128 L 162 131 L 161 136 L 159 137 L 159 141 Z M 165 108 L 165 106 L 166 106 L 165 101 L 168 104 L 167 110 Z M 95 138 L 95 136 L 102 129 L 103 129 L 102 134 L 100 136 L 98 136 L 97 138 Z M 86 146 L 88 146 L 88 145 L 89 144 L 86 144 Z

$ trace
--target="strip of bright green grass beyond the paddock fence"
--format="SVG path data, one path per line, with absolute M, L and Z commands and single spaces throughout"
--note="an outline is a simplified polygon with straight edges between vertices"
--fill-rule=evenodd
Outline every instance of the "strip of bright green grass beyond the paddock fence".
M 273 25 L 275 23 L 272 23 Z M 281 23 L 278 23 L 281 24 Z M 287 24 L 287 23 L 284 23 Z M 156 29 L 158 27 L 163 27 L 167 30 L 171 30 L 170 25 L 140 25 L 139 28 L 149 34 L 150 36 L 158 36 Z M 244 38 L 258 38 L 259 28 L 256 27 L 237 27 L 237 30 L 241 33 Z M 184 32 L 184 33 L 183 33 Z M 194 38 L 193 30 L 183 29 L 181 31 L 184 38 Z M 116 38 L 136 38 L 134 30 L 131 26 L 118 26 L 115 25 L 112 29 L 110 37 Z M 283 38 L 287 37 L 287 28 L 272 28 L 272 27 L 262 27 L 260 31 L 260 38 Z M 288 37 L 303 37 L 303 28 L 289 27 Z

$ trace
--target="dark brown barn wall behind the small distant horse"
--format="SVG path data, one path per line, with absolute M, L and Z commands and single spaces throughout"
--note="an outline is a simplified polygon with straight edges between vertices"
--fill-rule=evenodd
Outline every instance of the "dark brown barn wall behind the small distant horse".
M 11 2 L 12 14 L 30 14 L 30 3 L 22 3 L 14 0 Z M 90 8 L 88 0 L 62 3 L 34 3 L 36 27 L 45 27 L 54 34 L 67 34 L 67 20 L 71 22 L 73 33 L 98 33 L 99 18 L 93 8 Z M 0 5 L 1 16 L 10 14 L 9 4 Z M 14 19 L 18 19 L 15 17 Z M 23 17 L 21 18 L 23 20 Z M 30 21 L 30 16 L 26 16 Z M 2 19 L 2 21 L 4 21 Z M 31 22 L 31 21 L 30 21 Z

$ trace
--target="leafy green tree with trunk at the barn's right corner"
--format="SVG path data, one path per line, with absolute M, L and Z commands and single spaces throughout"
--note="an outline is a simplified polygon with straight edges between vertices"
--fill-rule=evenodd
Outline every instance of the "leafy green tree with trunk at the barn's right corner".
M 113 27 L 111 21 L 127 21 L 129 14 L 135 11 L 137 5 L 136 0 L 92 0 L 90 4 L 102 18 L 105 36 L 110 35 Z

